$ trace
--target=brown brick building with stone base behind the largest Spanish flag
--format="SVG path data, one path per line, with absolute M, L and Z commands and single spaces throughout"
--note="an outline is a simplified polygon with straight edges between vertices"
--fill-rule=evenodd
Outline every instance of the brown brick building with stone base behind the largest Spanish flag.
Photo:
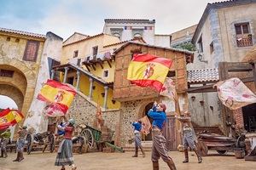
M 167 105 L 166 141 L 169 150 L 177 150 L 180 142 L 180 133 L 174 119 L 174 112 L 177 111 L 170 99 L 159 96 L 151 88 L 141 88 L 132 85 L 127 80 L 127 69 L 131 61 L 133 51 L 140 51 L 143 54 L 154 54 L 167 59 L 172 59 L 173 64 L 169 76 L 176 83 L 177 94 L 181 111 L 189 109 L 187 95 L 187 74 L 186 65 L 192 62 L 193 53 L 175 48 L 163 48 L 138 42 L 126 42 L 114 52 L 115 77 L 113 82 L 113 99 L 120 102 L 119 115 L 116 116 L 116 138 L 115 144 L 124 146 L 132 137 L 131 122 L 146 116 L 152 108 L 154 100 L 161 101 Z M 151 135 L 146 137 L 151 140 Z

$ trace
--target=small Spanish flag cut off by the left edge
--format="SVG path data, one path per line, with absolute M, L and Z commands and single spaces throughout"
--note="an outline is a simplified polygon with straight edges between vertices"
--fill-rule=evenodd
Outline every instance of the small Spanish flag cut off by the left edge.
M 20 122 L 24 116 L 18 110 L 5 109 L 0 112 L 0 130 L 5 130 Z

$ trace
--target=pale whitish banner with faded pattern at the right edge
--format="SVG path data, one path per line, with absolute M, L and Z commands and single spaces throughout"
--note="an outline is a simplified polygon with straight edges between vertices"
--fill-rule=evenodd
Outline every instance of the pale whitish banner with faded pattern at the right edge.
M 256 103 L 256 95 L 239 78 L 230 78 L 216 83 L 215 86 L 218 89 L 218 98 L 230 110 Z

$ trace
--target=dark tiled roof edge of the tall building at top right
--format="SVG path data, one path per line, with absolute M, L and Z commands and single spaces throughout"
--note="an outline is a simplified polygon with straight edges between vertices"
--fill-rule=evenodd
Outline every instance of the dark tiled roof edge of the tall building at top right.
M 208 14 L 210 13 L 212 8 L 227 8 L 249 3 L 256 3 L 256 0 L 230 0 L 217 3 L 207 3 L 207 8 L 205 8 L 204 13 L 201 16 L 201 20 L 199 21 L 199 24 L 196 27 L 194 37 L 192 38 L 192 42 L 195 43 L 196 37 L 199 37 L 201 28 L 204 25 L 205 21 L 207 20 Z

